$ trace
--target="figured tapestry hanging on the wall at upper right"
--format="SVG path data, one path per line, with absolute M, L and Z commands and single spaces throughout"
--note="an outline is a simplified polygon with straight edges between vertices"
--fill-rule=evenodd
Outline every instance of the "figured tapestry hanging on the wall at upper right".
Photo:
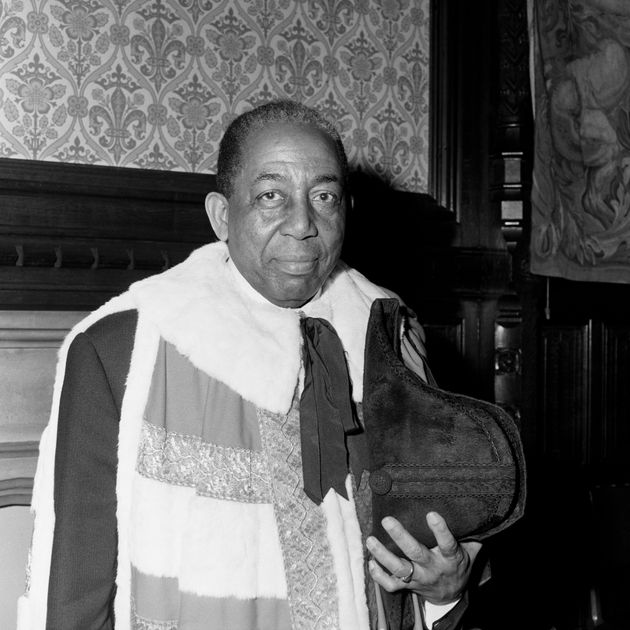
M 630 282 L 630 2 L 529 3 L 531 270 Z

